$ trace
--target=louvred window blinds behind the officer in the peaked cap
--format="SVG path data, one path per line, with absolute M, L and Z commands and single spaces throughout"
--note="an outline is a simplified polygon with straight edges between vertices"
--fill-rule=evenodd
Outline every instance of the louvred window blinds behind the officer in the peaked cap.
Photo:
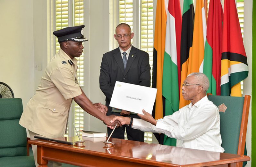
M 72 4 L 72 5 L 70 5 Z M 70 10 L 69 8 L 72 8 Z M 55 30 L 59 30 L 65 27 L 71 26 L 79 26 L 83 25 L 83 11 L 84 5 L 83 0 L 56 0 L 55 1 Z M 69 11 L 72 11 L 69 13 Z M 69 20 L 71 18 L 72 20 Z M 58 39 L 56 38 L 56 52 L 60 49 Z M 84 55 L 82 54 L 80 57 L 76 58 L 77 62 L 77 76 L 78 82 L 81 87 L 84 86 Z M 69 118 L 69 121 L 72 121 L 76 126 L 77 130 L 80 131 L 83 129 L 83 114 L 84 111 L 79 107 L 78 104 L 73 102 L 70 112 L 73 114 L 73 117 Z M 67 129 L 67 135 L 73 136 L 74 134 L 74 127 L 73 124 L 69 124 L 70 127 Z M 72 131 L 69 133 L 69 128 L 72 127 Z

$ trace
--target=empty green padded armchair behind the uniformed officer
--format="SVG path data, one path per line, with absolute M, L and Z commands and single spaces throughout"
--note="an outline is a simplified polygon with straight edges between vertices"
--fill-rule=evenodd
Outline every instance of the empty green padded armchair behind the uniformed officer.
M 33 156 L 27 156 L 26 129 L 19 124 L 23 111 L 20 98 L 0 99 L 0 166 L 34 167 Z

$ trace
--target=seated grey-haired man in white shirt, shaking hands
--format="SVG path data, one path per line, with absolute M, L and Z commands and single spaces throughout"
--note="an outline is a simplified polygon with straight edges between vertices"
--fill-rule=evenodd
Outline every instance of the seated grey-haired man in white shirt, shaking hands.
M 224 152 L 220 146 L 219 110 L 208 100 L 208 88 L 209 80 L 205 74 L 191 73 L 182 87 L 183 98 L 191 101 L 189 105 L 158 120 L 142 110 L 144 115 L 138 114 L 142 120 L 115 117 L 112 121 L 119 120 L 122 125 L 130 125 L 144 132 L 165 133 L 168 137 L 178 139 L 178 147 Z

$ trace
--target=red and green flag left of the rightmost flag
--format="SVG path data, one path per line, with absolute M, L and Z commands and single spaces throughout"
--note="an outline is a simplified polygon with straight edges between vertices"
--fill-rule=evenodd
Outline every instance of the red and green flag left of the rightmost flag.
M 210 81 L 207 93 L 220 95 L 221 38 L 223 10 L 220 0 L 210 0 L 203 73 Z

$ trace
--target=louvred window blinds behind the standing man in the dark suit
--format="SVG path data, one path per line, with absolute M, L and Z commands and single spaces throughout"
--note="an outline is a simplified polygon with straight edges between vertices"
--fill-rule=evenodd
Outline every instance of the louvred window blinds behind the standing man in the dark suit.
M 138 3 L 139 1 L 139 3 Z M 135 6 L 139 4 L 139 7 Z M 136 14 L 134 14 L 136 13 Z M 153 65 L 153 0 L 119 0 L 119 23 L 127 23 L 139 32 L 135 33 L 139 38 L 133 38 L 139 49 L 149 53 L 149 64 Z M 139 18 L 139 19 L 138 19 Z M 152 74 L 152 71 L 151 71 Z M 152 75 L 151 75 L 152 79 Z M 151 82 L 152 83 L 152 82 Z M 144 142 L 152 143 L 153 134 L 145 132 Z M 126 133 L 125 133 L 125 139 Z

